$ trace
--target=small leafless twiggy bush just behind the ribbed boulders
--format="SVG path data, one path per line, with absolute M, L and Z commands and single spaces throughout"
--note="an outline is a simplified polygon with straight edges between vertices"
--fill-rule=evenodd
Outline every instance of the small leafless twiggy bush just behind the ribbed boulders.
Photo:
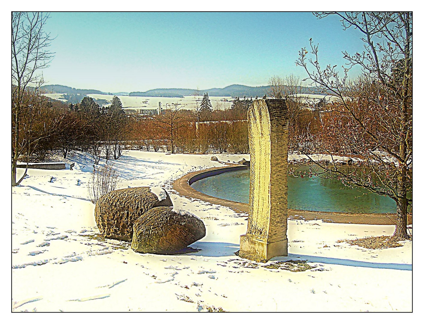
M 93 169 L 92 177 L 88 183 L 88 194 L 93 204 L 97 203 L 101 196 L 116 189 L 118 173 L 112 165 L 97 166 Z

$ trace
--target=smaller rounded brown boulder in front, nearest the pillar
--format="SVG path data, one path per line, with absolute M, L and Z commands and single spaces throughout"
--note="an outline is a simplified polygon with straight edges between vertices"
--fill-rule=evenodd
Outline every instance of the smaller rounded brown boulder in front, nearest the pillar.
M 170 207 L 156 207 L 137 218 L 131 249 L 142 253 L 172 254 L 206 235 L 204 223 L 180 215 Z

